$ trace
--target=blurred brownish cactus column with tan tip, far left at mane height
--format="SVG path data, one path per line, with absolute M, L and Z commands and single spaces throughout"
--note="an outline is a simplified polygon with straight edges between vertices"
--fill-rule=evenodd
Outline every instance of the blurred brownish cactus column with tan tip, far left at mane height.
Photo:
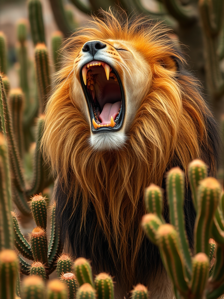
M 19 150 L 20 157 L 24 155 L 24 138 L 23 138 L 23 110 L 24 94 L 20 88 L 11 89 L 9 93 L 9 106 L 12 115 L 12 126 L 15 136 L 15 142 Z

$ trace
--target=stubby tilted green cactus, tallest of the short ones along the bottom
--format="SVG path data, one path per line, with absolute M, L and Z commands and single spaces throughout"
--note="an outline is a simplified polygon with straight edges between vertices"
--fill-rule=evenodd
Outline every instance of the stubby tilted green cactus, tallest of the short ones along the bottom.
M 74 272 L 80 286 L 83 283 L 90 283 L 91 286 L 94 286 L 90 263 L 84 257 L 79 257 L 75 260 Z

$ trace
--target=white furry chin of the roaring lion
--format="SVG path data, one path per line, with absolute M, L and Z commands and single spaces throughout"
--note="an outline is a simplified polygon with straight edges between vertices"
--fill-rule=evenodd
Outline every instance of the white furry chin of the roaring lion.
M 100 132 L 91 134 L 90 144 L 97 151 L 116 150 L 125 146 L 127 136 L 124 132 Z

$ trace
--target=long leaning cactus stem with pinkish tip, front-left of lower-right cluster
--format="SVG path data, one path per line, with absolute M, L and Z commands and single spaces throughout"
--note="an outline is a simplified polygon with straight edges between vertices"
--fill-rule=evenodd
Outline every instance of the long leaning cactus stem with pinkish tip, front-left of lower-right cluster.
M 185 263 L 179 245 L 178 233 L 171 224 L 162 224 L 157 230 L 158 245 L 163 264 L 180 295 L 189 293 Z

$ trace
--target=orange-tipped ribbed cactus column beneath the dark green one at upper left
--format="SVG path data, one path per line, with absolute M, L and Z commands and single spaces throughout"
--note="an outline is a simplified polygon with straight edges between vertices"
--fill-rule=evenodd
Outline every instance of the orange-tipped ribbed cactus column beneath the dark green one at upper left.
M 44 43 L 39 43 L 35 48 L 35 68 L 40 99 L 40 113 L 43 113 L 47 101 L 47 94 L 50 91 L 50 72 L 48 51 Z

